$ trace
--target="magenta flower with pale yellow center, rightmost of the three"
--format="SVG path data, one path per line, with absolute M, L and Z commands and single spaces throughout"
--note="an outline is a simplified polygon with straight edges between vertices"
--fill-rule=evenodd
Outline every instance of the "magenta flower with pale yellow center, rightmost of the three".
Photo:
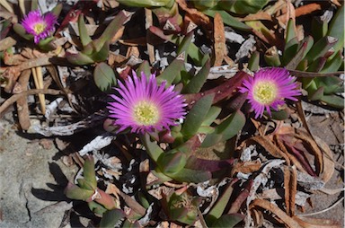
M 297 101 L 295 96 L 301 92 L 295 80 L 296 77 L 291 76 L 285 68 L 264 68 L 245 80 L 239 91 L 248 92 L 247 99 L 255 118 L 262 117 L 264 110 L 271 116 L 270 108 L 279 110 L 279 106 L 285 104 L 285 99 Z

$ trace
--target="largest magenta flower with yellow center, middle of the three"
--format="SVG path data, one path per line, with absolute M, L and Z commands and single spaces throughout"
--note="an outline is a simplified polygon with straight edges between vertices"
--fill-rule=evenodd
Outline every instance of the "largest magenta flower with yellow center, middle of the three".
M 131 132 L 141 134 L 177 125 L 175 120 L 184 118 L 187 104 L 173 88 L 165 89 L 165 82 L 157 85 L 155 75 L 147 80 L 144 73 L 139 78 L 133 72 L 133 79 L 128 76 L 124 84 L 119 82 L 119 96 L 111 95 L 115 101 L 107 107 L 110 117 L 115 118 L 119 131 L 130 128 Z

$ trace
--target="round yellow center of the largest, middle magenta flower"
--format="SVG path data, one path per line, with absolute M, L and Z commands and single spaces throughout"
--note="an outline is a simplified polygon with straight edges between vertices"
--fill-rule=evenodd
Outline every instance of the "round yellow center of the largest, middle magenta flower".
M 154 125 L 159 119 L 159 111 L 154 104 L 141 101 L 134 106 L 134 118 L 137 123 L 145 126 Z

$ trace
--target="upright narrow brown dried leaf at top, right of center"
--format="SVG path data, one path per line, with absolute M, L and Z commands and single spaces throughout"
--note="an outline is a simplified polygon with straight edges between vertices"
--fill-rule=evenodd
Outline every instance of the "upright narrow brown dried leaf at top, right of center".
M 214 21 L 214 39 L 215 39 L 215 64 L 214 66 L 221 66 L 224 57 L 227 55 L 226 49 L 226 33 L 224 31 L 223 19 L 219 13 L 215 15 Z

